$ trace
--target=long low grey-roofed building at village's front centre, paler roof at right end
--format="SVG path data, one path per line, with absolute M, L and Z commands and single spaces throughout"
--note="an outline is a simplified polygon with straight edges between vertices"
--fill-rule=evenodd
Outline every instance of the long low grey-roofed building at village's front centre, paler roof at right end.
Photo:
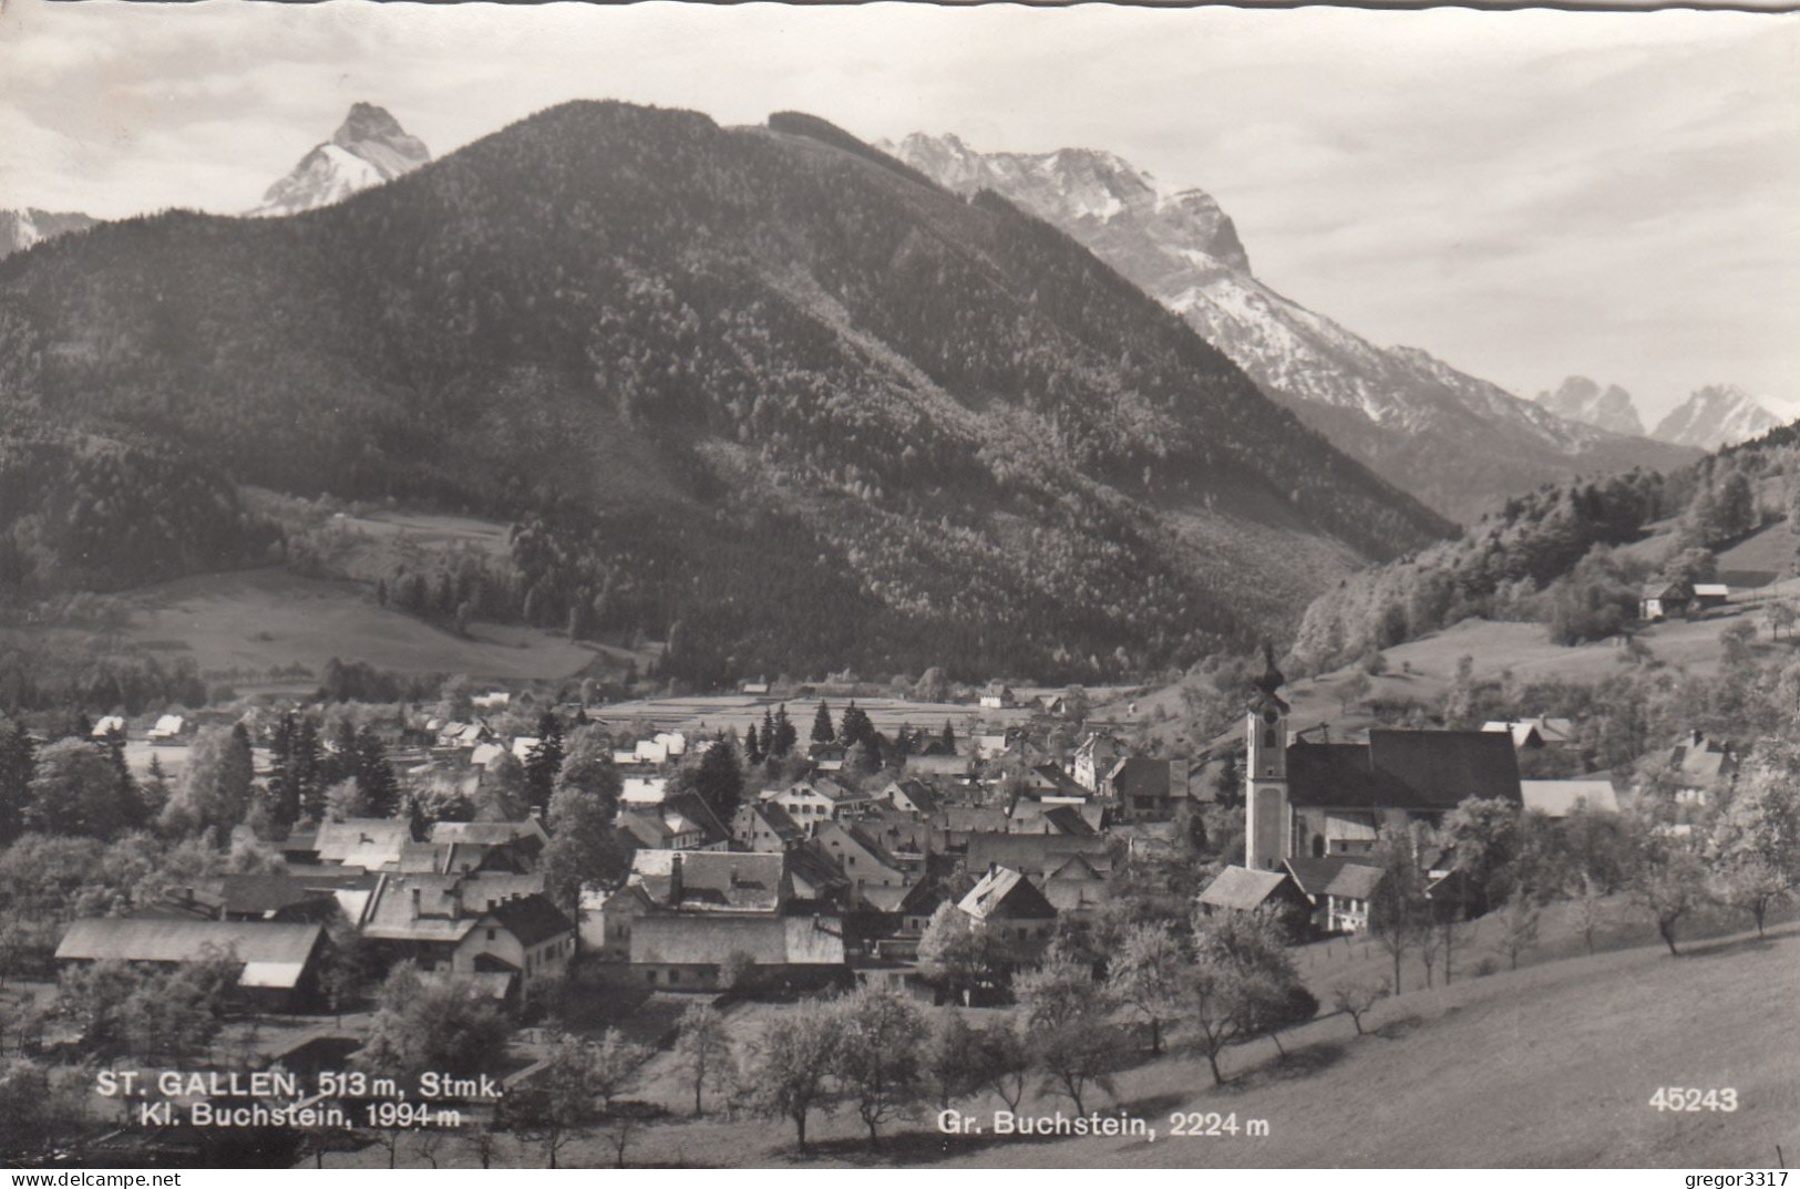
M 824 988 L 848 982 L 844 932 L 835 917 L 693 916 L 641 917 L 630 937 L 630 977 L 671 991 L 745 984 Z

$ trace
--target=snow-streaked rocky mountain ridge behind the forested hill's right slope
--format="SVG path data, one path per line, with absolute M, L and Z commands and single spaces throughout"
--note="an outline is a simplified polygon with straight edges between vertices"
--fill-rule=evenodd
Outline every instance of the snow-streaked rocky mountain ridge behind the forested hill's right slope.
M 1264 284 L 1210 194 L 1112 153 L 981 153 L 923 133 L 886 148 L 952 191 L 994 191 L 1055 223 L 1269 396 L 1445 516 L 1469 522 L 1543 482 L 1696 457 L 1557 416 L 1424 351 L 1370 344 Z

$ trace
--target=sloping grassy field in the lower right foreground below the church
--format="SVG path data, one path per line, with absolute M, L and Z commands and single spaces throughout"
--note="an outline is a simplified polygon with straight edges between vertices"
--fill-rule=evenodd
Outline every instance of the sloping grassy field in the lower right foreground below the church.
M 1552 948 L 1566 926 L 1546 923 Z M 1631 941 L 1620 934 L 1618 941 Z M 1339 943 L 1341 944 L 1341 943 Z M 1471 950 L 1471 955 L 1476 950 Z M 1339 970 L 1348 970 L 1343 966 Z M 1318 975 L 1314 968 L 1314 975 Z M 1359 1036 L 1346 1016 L 1323 1016 L 1283 1038 L 1226 1050 L 1228 1085 L 1215 1088 L 1204 1059 L 1177 1033 L 1166 1056 L 1118 1077 L 1116 1094 L 1094 1094 L 1089 1110 L 1127 1112 L 1157 1131 L 1143 1139 L 1017 1140 L 945 1137 L 932 1112 L 900 1124 L 869 1151 L 853 1112 L 814 1115 L 812 1151 L 794 1149 L 790 1124 L 761 1119 L 691 1119 L 691 1090 L 670 1054 L 644 1068 L 632 1097 L 664 1106 L 670 1119 L 626 1137 L 632 1166 L 981 1166 L 981 1167 L 1757 1167 L 1775 1146 L 1800 1149 L 1800 1079 L 1793 1045 L 1800 1027 L 1800 926 L 1771 928 L 1766 941 L 1728 934 L 1690 943 L 1672 959 L 1660 944 L 1579 953 L 1409 989 L 1375 1007 Z M 1411 984 L 1409 984 L 1411 986 Z M 734 1036 L 787 1007 L 727 1009 Z M 972 1013 L 976 1016 L 988 1013 Z M 1733 1088 L 1737 1112 L 1670 1113 L 1649 1101 L 1658 1086 Z M 994 1097 L 959 1103 L 988 1124 Z M 1022 1113 L 1069 1104 L 1028 1095 Z M 1175 1112 L 1235 1112 L 1251 1137 L 1168 1135 Z M 565 1167 L 612 1166 L 616 1133 L 601 1130 L 562 1153 Z M 423 1164 L 403 1144 L 400 1164 Z M 445 1167 L 470 1153 L 450 1140 L 432 1157 Z M 502 1140 L 508 1164 L 542 1164 L 542 1149 Z M 373 1166 L 385 1153 L 335 1155 L 328 1164 Z

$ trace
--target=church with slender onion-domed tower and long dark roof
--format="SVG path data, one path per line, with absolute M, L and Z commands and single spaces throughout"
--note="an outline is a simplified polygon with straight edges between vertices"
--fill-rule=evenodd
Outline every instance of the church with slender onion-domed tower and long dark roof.
M 1469 797 L 1523 804 L 1512 736 L 1489 730 L 1370 730 L 1366 743 L 1289 738 L 1285 684 L 1255 682 L 1246 720 L 1244 865 L 1368 854 L 1384 829 L 1438 826 Z

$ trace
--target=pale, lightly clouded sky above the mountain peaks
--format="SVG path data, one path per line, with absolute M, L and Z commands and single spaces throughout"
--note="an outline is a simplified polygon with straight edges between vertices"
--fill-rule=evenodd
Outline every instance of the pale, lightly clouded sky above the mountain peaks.
M 1795 13 L 5 0 L 0 209 L 241 212 L 355 101 L 441 156 L 583 97 L 1111 149 L 1377 344 L 1800 412 Z

